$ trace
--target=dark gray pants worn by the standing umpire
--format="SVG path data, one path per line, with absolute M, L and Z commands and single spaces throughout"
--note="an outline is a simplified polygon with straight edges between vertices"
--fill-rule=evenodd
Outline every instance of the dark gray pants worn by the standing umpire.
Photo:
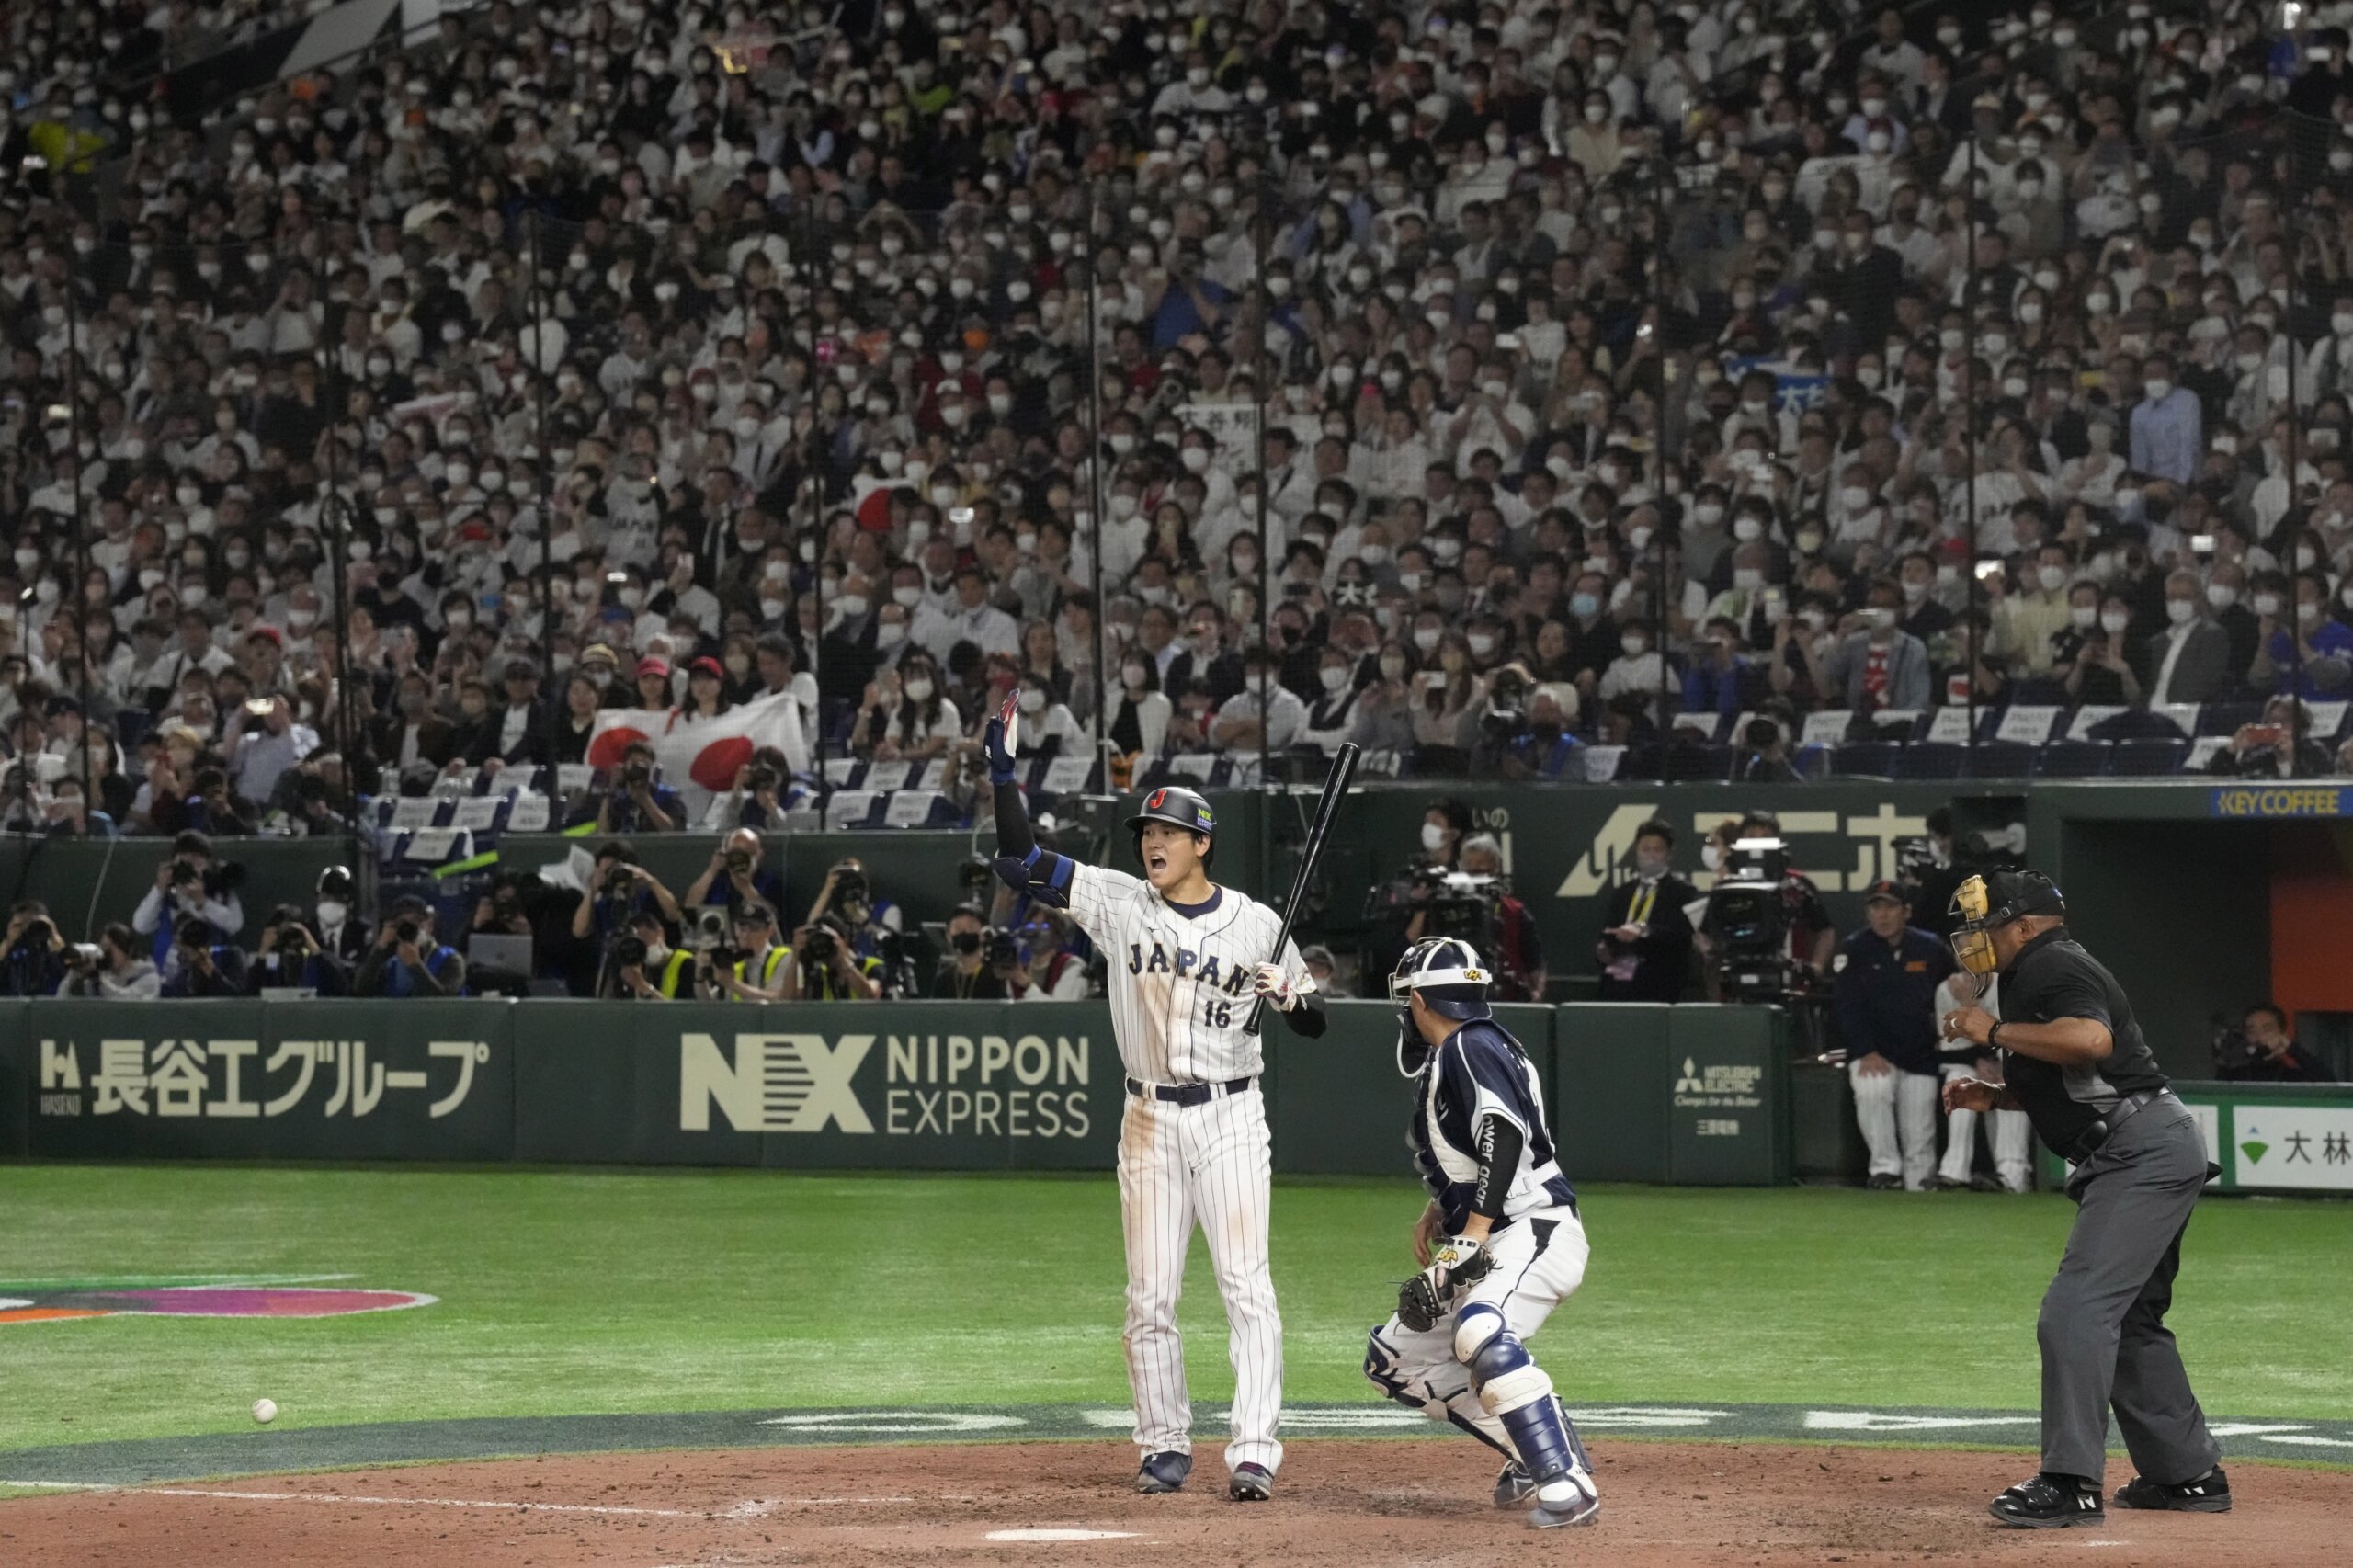
M 2075 1229 L 2035 1323 L 2042 1469 L 2099 1481 L 2111 1406 L 2148 1481 L 2191 1481 L 2221 1457 L 2165 1328 L 2181 1231 L 2205 1182 L 2205 1140 L 2172 1099 L 2129 1116 L 2068 1182 Z

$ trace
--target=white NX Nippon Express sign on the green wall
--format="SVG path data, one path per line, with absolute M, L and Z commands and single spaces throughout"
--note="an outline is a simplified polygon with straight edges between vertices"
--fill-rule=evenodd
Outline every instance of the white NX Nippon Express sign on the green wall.
M 678 1130 L 1085 1140 L 1092 1078 L 1085 1034 L 685 1031 Z

